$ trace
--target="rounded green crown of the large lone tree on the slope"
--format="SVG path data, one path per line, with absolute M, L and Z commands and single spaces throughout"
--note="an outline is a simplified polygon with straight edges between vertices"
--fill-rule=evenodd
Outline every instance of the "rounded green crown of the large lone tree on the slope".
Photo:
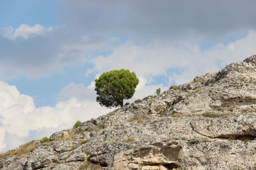
M 124 106 L 124 100 L 130 99 L 139 80 L 134 72 L 127 69 L 112 70 L 95 79 L 96 101 L 108 108 Z

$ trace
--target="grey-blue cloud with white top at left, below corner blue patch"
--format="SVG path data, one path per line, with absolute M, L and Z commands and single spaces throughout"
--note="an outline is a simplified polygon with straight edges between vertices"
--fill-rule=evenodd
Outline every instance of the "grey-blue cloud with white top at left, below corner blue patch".
M 65 25 L 0 28 L 0 80 L 40 78 L 67 66 L 81 66 L 90 53 L 111 41 L 113 38 L 83 34 Z

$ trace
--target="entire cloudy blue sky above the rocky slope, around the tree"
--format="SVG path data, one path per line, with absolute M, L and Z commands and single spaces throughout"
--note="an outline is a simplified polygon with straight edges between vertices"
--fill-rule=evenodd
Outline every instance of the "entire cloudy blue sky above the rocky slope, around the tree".
M 255 54 L 255 0 L 1 0 L 0 153 L 111 111 L 94 80 L 138 76 L 135 99 Z

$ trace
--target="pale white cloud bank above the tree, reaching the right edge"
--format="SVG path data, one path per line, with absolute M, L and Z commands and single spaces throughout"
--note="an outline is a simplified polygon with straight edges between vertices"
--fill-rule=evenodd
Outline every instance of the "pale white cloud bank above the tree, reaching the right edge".
M 255 38 L 256 32 L 250 31 L 244 38 L 227 45 L 220 43 L 206 50 L 188 42 L 136 45 L 130 41 L 116 47 L 109 55 L 93 58 L 90 72 L 125 68 L 135 71 L 147 81 L 162 75 L 170 77 L 168 83 L 185 83 L 195 76 L 218 71 L 225 64 L 249 57 L 255 53 Z M 172 70 L 170 74 L 168 70 Z

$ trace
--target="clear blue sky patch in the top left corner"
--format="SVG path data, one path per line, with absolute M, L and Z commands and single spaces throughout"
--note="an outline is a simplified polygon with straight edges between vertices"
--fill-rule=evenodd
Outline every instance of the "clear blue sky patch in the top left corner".
M 41 24 L 45 27 L 60 25 L 58 13 L 61 2 L 43 0 L 1 1 L 0 27 L 19 27 L 20 24 Z

